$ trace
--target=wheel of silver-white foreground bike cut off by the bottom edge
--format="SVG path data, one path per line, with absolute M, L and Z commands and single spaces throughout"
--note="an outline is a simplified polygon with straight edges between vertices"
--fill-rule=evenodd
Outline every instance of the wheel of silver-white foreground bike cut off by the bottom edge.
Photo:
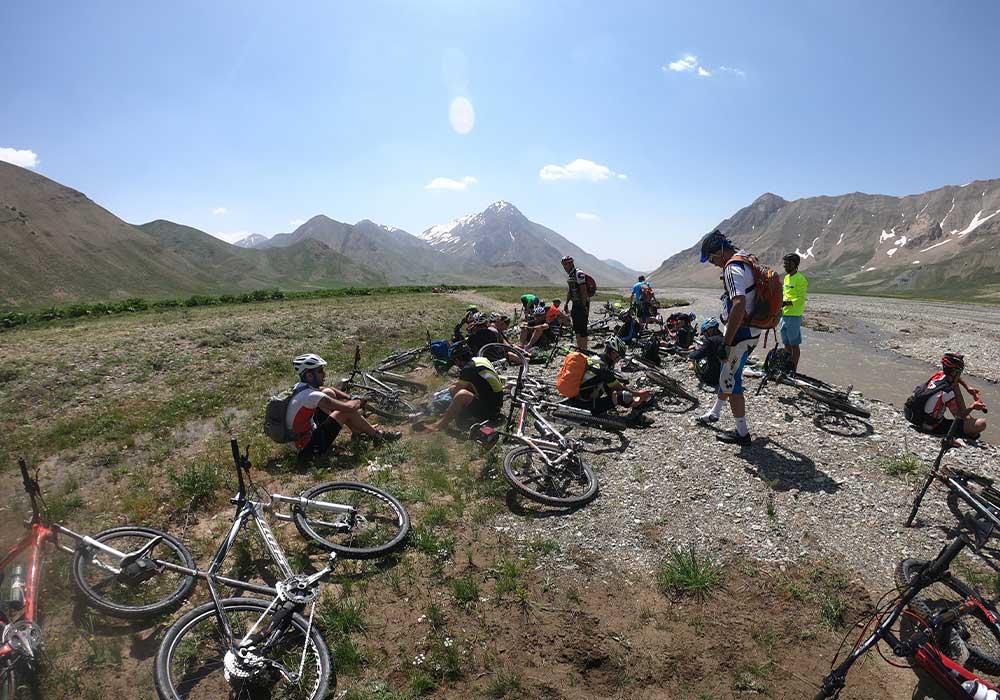
M 161 700 L 321 700 L 329 686 L 336 685 L 330 650 L 315 621 L 299 613 L 285 618 L 283 630 L 266 642 L 241 645 L 238 659 L 232 647 L 255 632 L 268 630 L 280 606 L 255 598 L 224 598 L 219 610 L 229 620 L 233 640 L 226 639 L 216 621 L 215 603 L 205 603 L 175 622 L 159 650 L 153 679 Z M 307 632 L 308 631 L 308 632 Z M 303 655 L 305 661 L 303 663 Z M 247 659 L 246 657 L 249 657 Z M 254 661 L 259 665 L 254 666 Z M 288 680 L 267 662 L 277 662 L 288 671 L 302 674 Z

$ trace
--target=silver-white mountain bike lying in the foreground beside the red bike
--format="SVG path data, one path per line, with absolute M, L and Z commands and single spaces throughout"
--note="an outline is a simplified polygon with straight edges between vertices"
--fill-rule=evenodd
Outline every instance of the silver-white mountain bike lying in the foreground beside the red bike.
M 211 601 L 167 630 L 156 654 L 156 690 L 161 700 L 320 700 L 336 681 L 329 649 L 313 624 L 319 584 L 332 574 L 338 555 L 367 559 L 402 546 L 409 516 L 389 494 L 353 482 L 319 484 L 294 497 L 267 495 L 254 485 L 247 453 L 240 454 L 235 439 L 230 448 L 237 478 L 237 492 L 230 499 L 236 506 L 233 524 L 207 569 L 181 569 L 205 581 Z M 276 504 L 289 505 L 291 513 L 280 512 Z M 331 550 L 327 566 L 310 575 L 292 571 L 265 513 L 294 521 L 302 535 Z M 277 566 L 280 580 L 273 587 L 218 573 L 250 520 Z M 221 598 L 220 583 L 271 600 Z M 307 607 L 308 617 L 303 615 Z

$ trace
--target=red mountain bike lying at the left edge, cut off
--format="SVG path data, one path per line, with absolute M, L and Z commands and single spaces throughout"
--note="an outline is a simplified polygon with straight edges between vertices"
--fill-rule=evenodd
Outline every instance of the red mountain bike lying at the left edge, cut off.
M 103 612 L 129 620 L 149 619 L 179 606 L 194 581 L 165 573 L 164 563 L 194 565 L 191 554 L 176 539 L 148 527 L 115 527 L 90 537 L 49 521 L 37 473 L 28 473 L 24 458 L 18 460 L 21 481 L 31 501 L 28 532 L 0 559 L 6 571 L 28 553 L 18 595 L 0 612 L 0 698 L 13 700 L 15 673 L 31 671 L 42 646 L 38 624 L 39 593 L 45 545 L 73 555 L 73 580 L 88 603 Z M 39 507 L 41 505 L 41 508 Z M 60 538 L 72 541 L 70 546 Z M 156 559 L 153 552 L 156 551 Z M 98 556 L 100 555 L 100 556 Z M 100 583 L 95 583 L 99 574 Z

